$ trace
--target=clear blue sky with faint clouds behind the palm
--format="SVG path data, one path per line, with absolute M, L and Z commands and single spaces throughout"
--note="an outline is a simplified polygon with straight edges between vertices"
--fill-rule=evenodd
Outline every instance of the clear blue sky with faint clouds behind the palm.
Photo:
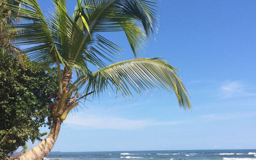
M 38 2 L 44 12 L 52 4 Z M 70 13 L 75 4 L 67 0 Z M 162 0 L 156 40 L 139 57 L 162 56 L 180 69 L 192 110 L 164 90 L 125 100 L 103 93 L 67 117 L 52 151 L 255 149 L 255 6 Z M 124 34 L 107 36 L 124 49 L 118 61 L 133 58 Z

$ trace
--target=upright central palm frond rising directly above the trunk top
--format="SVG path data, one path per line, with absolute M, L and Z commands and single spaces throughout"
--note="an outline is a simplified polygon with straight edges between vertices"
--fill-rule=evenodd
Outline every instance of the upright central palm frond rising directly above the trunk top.
M 112 59 L 121 52 L 120 47 L 97 33 L 90 34 L 86 15 L 81 14 L 85 17 L 83 24 L 86 26 L 82 30 L 60 1 L 55 4 L 56 11 L 48 19 L 56 48 L 70 68 L 83 70 L 87 68 L 87 62 L 98 67 L 105 66 L 104 60 L 113 62 Z

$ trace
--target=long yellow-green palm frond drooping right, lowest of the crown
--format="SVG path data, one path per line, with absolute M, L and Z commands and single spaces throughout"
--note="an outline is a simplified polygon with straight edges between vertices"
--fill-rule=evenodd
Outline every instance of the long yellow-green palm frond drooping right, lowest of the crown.
M 108 88 L 119 91 L 124 97 L 133 96 L 130 88 L 138 94 L 161 88 L 174 91 L 179 105 L 184 109 L 191 108 L 186 88 L 176 71 L 160 58 L 136 58 L 102 68 L 78 84 L 80 89 L 86 86 L 85 93 L 94 91 L 93 96 Z

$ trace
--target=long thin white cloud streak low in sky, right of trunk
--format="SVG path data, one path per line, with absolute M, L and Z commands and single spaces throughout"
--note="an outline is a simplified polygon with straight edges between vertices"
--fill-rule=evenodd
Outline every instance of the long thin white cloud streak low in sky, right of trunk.
M 68 126 L 78 125 L 89 128 L 118 130 L 134 130 L 147 126 L 175 125 L 180 123 L 182 123 L 182 121 L 129 120 L 110 116 L 102 117 L 99 115 L 68 116 L 64 121 L 64 124 L 68 124 Z

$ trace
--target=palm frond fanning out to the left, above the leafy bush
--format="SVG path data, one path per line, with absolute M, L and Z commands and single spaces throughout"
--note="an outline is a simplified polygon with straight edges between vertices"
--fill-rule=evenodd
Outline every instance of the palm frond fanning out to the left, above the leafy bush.
M 13 24 L 10 26 L 10 28 L 24 28 L 26 29 L 26 32 L 16 34 L 10 37 L 10 39 L 15 40 L 14 44 L 18 45 L 33 44 L 32 47 L 26 48 L 24 52 L 28 53 L 28 55 L 31 56 L 36 62 L 54 63 L 56 62 L 56 56 L 62 60 L 61 56 L 58 55 L 56 51 L 48 23 L 46 22 L 46 19 L 44 18 L 42 10 L 40 9 L 37 1 L 22 0 L 21 4 L 22 6 L 26 6 L 26 8 L 12 6 L 10 4 L 6 5 L 5 7 L 9 10 L 21 13 L 21 15 L 12 16 L 24 18 L 26 20 L 32 20 L 34 23 Z M 38 55 L 36 53 L 39 50 L 42 52 Z

